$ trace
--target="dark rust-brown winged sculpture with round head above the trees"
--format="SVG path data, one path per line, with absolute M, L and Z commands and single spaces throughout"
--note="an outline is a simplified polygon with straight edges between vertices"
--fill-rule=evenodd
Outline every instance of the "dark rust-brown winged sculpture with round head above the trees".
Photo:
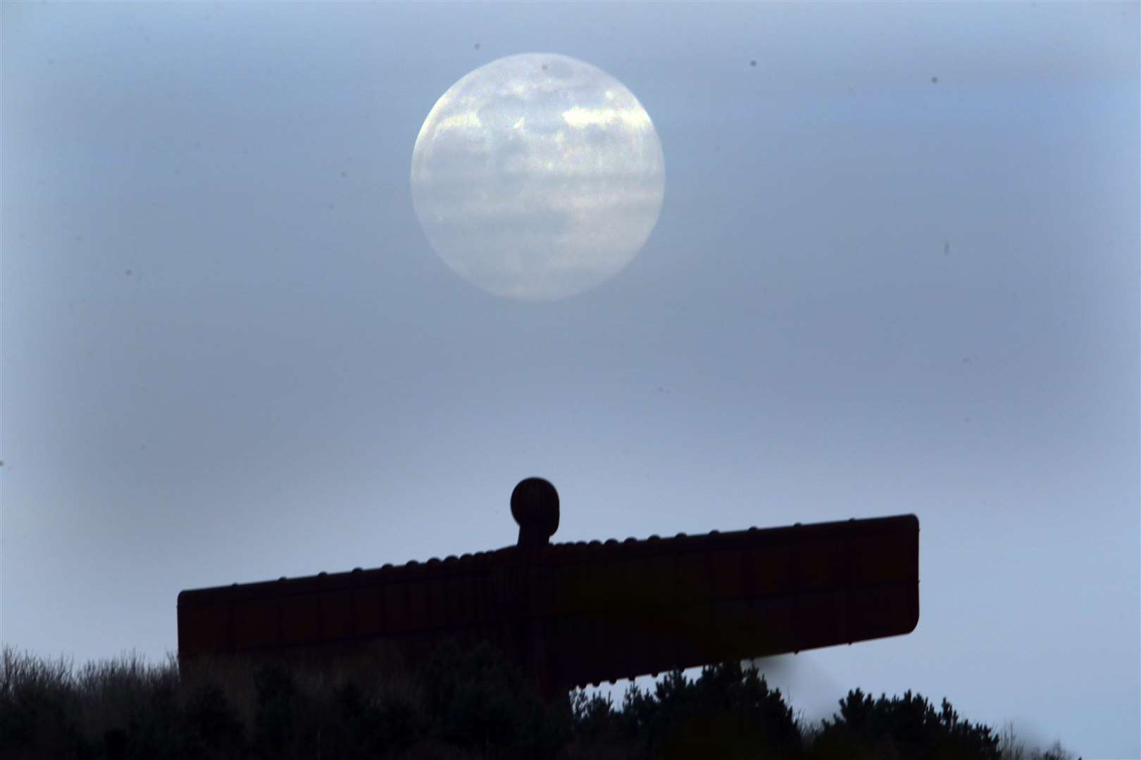
M 487 640 L 542 689 L 851 644 L 919 622 L 914 515 L 550 544 L 558 493 L 511 495 L 517 546 L 444 561 L 183 591 L 179 661 L 337 660 L 385 641 L 416 662 Z

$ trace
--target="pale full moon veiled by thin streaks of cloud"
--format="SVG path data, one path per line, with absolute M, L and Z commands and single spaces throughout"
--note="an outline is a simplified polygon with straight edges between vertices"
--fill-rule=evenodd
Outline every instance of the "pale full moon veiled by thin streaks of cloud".
M 439 258 L 495 295 L 557 301 L 614 277 L 665 194 L 654 123 L 588 63 L 525 54 L 480 66 L 429 112 L 412 203 Z

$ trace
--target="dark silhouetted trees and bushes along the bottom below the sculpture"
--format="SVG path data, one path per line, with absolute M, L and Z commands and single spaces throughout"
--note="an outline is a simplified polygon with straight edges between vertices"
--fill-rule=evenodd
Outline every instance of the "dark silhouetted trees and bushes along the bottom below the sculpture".
M 213 668 L 183 683 L 177 663 L 128 656 L 75 669 L 5 648 L 0 758 L 365 760 L 394 758 L 788 758 L 1070 760 L 911 692 L 859 689 L 806 724 L 755 670 L 633 685 L 621 704 L 572 692 L 544 702 L 489 647 L 439 649 L 414 672 L 351 676 L 281 664 Z

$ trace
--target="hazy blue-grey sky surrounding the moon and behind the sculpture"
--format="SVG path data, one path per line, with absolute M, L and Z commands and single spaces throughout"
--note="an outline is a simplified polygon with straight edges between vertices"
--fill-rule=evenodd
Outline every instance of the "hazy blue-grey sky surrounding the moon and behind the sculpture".
M 915 513 L 917 629 L 774 664 L 793 705 L 1141 755 L 1138 3 L 0 22 L 5 644 L 159 659 L 181 589 L 505 546 L 542 475 L 556 540 Z M 528 51 L 665 157 L 641 253 L 553 303 L 410 190 L 439 96 Z

